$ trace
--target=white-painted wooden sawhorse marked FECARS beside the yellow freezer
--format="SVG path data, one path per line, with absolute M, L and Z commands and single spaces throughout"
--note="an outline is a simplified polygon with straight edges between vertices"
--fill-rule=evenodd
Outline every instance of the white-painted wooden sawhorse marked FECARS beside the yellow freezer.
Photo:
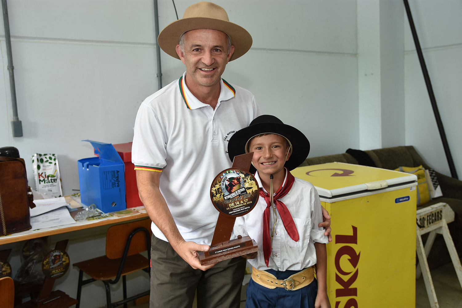
M 454 221 L 454 211 L 447 203 L 440 202 L 417 211 L 416 250 L 419 265 L 417 265 L 415 274 L 416 278 L 419 278 L 421 273 L 424 275 L 425 288 L 432 308 L 439 308 L 439 305 L 433 286 L 432 275 L 428 268 L 427 256 L 430 253 L 430 249 L 432 249 L 437 234 L 441 234 L 444 237 L 444 242 L 446 242 L 446 247 L 448 248 L 452 264 L 459 279 L 459 284 L 462 287 L 461 261 L 448 229 L 448 223 L 452 221 Z M 429 232 L 430 234 L 424 248 L 421 236 Z

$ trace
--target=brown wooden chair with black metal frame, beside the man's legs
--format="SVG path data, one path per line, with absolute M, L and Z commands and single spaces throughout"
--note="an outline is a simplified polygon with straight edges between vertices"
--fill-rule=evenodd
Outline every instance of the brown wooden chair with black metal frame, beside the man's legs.
M 147 251 L 147 258 L 140 253 Z M 151 220 L 143 219 L 130 223 L 112 226 L 106 234 L 106 255 L 73 264 L 80 270 L 77 286 L 77 300 L 80 306 L 82 286 L 95 280 L 101 280 L 106 288 L 107 307 L 113 308 L 124 305 L 136 298 L 149 295 L 149 290 L 127 298 L 126 275 L 143 270 L 151 276 L 149 260 L 151 253 Z M 82 280 L 83 273 L 91 278 Z M 111 302 L 109 284 L 116 284 L 122 277 L 123 300 Z

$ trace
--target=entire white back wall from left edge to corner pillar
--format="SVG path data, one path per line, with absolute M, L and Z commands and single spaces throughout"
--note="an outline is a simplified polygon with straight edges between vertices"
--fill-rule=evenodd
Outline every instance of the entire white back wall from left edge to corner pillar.
M 175 1 L 180 18 L 193 2 Z M 254 39 L 250 51 L 230 62 L 223 77 L 252 91 L 264 113 L 302 130 L 311 141 L 311 156 L 357 148 L 355 0 L 216 3 Z M 0 146 L 18 148 L 32 187 L 30 156 L 56 153 L 64 193 L 69 194 L 79 188 L 77 160 L 93 155 L 91 145 L 81 140 L 131 141 L 141 101 L 158 90 L 152 0 L 10 0 L 8 9 L 24 136 L 11 135 L 6 46 L 0 36 Z M 160 29 L 175 19 L 172 2 L 159 1 Z M 161 57 L 167 85 L 184 66 L 163 52 Z M 49 243 L 69 238 L 67 252 L 75 263 L 104 253 L 105 229 L 50 236 Z M 20 266 L 23 244 L 1 247 L 13 248 L 13 272 Z M 77 277 L 71 268 L 55 288 L 76 296 Z M 148 284 L 139 276 L 131 280 L 135 286 L 128 282 L 129 294 Z M 120 298 L 120 289 L 113 293 Z M 81 307 L 102 306 L 102 284 L 85 286 Z

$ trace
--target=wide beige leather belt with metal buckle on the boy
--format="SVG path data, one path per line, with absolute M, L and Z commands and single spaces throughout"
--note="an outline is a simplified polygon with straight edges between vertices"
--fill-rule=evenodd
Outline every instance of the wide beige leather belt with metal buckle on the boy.
M 314 279 L 314 267 L 305 268 L 286 279 L 276 279 L 276 276 L 266 271 L 257 270 L 252 266 L 252 279 L 268 289 L 284 288 L 286 290 L 298 290 L 310 284 Z

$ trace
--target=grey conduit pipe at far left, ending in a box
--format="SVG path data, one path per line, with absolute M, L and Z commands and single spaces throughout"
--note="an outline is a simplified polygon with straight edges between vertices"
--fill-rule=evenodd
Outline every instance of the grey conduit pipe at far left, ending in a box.
M 18 105 L 16 103 L 16 87 L 14 85 L 14 66 L 13 56 L 11 52 L 11 38 L 10 38 L 10 21 L 8 19 L 8 7 L 6 6 L 6 0 L 1 1 L 3 9 L 3 24 L 5 26 L 5 42 L 6 42 L 6 54 L 8 55 L 8 72 L 10 72 L 10 89 L 11 89 L 11 103 L 13 107 L 13 121 L 11 121 L 11 128 L 13 137 L 23 136 L 23 126 L 18 118 Z

